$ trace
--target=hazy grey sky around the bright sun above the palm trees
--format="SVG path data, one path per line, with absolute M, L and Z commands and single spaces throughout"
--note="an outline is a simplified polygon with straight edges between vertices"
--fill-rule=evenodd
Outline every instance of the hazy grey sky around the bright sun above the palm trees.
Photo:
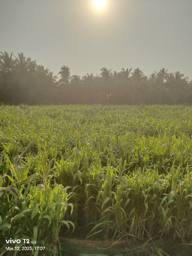
M 0 0 L 0 51 L 23 52 L 57 75 L 107 67 L 168 68 L 192 79 L 192 0 Z

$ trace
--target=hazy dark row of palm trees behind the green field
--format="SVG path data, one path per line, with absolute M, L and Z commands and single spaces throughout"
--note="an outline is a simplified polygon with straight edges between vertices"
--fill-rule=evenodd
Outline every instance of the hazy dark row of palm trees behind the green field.
M 100 75 L 57 76 L 24 54 L 0 52 L 0 101 L 5 104 L 183 104 L 192 103 L 192 80 L 162 68 L 149 77 L 136 68 L 120 72 L 105 67 Z

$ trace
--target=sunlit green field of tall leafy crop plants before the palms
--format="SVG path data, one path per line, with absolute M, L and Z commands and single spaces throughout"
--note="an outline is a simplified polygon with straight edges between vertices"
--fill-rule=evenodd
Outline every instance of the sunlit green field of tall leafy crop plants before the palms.
M 0 255 L 61 255 L 60 234 L 78 230 L 127 241 L 126 255 L 166 237 L 192 244 L 191 116 L 182 105 L 1 106 Z M 5 252 L 10 238 L 45 250 Z

